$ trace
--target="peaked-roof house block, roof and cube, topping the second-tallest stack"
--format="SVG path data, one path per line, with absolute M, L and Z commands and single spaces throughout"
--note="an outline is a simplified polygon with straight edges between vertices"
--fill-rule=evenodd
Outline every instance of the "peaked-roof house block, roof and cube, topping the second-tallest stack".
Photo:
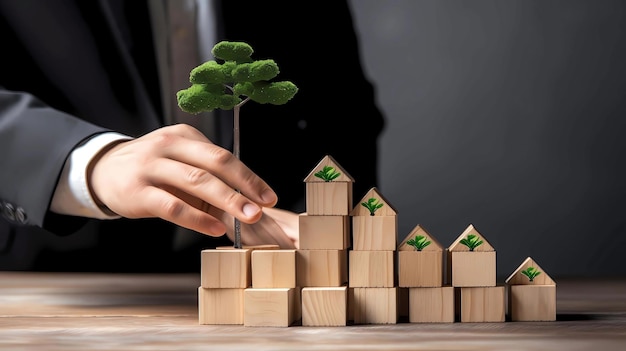
M 397 211 L 376 187 L 371 188 L 361 198 L 350 212 L 350 216 L 352 216 L 353 250 L 396 250 Z

